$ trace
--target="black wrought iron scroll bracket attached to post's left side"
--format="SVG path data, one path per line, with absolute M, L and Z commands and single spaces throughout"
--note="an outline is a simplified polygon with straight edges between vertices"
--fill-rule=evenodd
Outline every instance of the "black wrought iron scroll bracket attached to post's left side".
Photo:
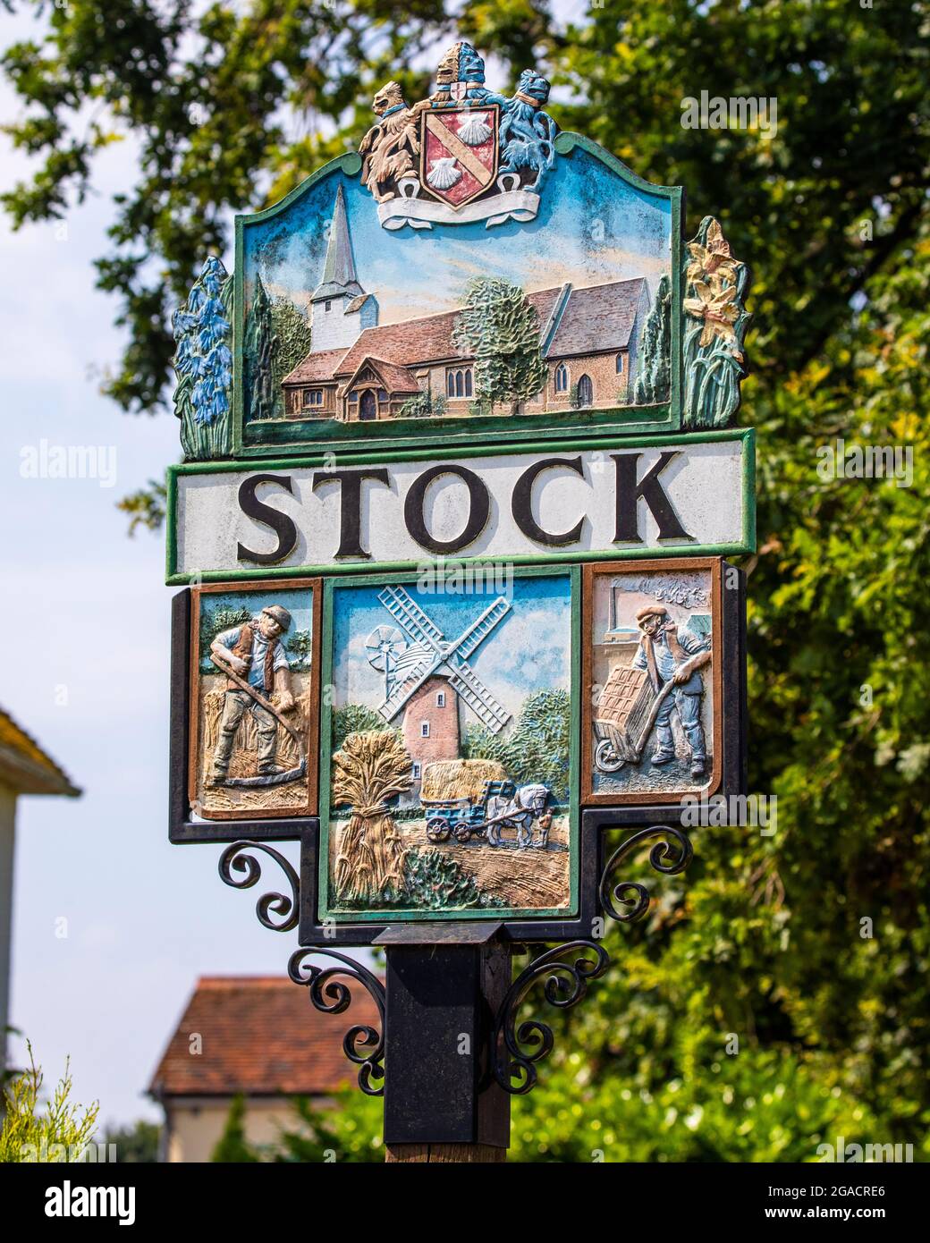
M 320 967 L 307 961 L 313 956 L 336 958 L 338 965 Z M 358 1066 L 358 1086 L 362 1091 L 368 1096 L 383 1096 L 385 994 L 380 979 L 354 958 L 321 946 L 296 950 L 287 963 L 287 975 L 295 984 L 307 988 L 311 1004 L 325 1014 L 341 1014 L 352 1003 L 352 991 L 344 979 L 337 978 L 338 976 L 346 976 L 367 989 L 378 1007 L 378 1027 L 371 1027 L 368 1023 L 353 1024 L 343 1038 L 342 1052 Z

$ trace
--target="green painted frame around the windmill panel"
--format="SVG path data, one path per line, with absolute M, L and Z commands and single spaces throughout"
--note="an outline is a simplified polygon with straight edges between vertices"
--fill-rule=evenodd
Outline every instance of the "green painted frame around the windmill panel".
M 320 853 L 317 858 L 317 922 L 334 924 L 398 924 L 433 922 L 435 920 L 551 920 L 573 919 L 578 914 L 578 851 L 581 844 L 581 625 L 582 582 L 578 566 L 531 566 L 513 571 L 515 578 L 547 578 L 559 576 L 568 579 L 571 593 L 571 725 L 568 738 L 568 907 L 526 911 L 521 907 L 481 907 L 480 910 L 417 911 L 385 907 L 382 911 L 331 911 L 329 910 L 329 784 L 332 758 L 332 704 L 331 695 L 322 696 L 320 718 Z M 333 592 L 337 587 L 354 587 L 361 583 L 410 583 L 415 574 L 364 574 L 339 576 L 323 582 L 323 630 L 320 676 L 322 686 L 332 686 L 333 667 Z

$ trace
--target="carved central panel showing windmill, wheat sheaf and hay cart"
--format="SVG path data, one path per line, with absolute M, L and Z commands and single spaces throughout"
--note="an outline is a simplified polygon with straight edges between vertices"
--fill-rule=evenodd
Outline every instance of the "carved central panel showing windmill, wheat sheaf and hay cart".
M 577 574 L 327 583 L 322 917 L 573 914 Z

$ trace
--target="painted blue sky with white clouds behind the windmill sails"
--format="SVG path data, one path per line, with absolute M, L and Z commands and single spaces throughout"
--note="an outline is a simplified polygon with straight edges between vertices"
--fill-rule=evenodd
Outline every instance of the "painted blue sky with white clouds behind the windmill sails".
M 567 574 L 513 578 L 510 590 L 497 592 L 492 585 L 490 590 L 458 595 L 418 592 L 415 582 L 403 585 L 449 641 L 458 639 L 499 595 L 510 600 L 510 613 L 469 656 L 469 665 L 515 717 L 533 691 L 569 689 L 572 600 Z M 380 590 L 380 584 L 334 588 L 336 707 L 377 707 L 384 697 L 384 675 L 372 667 L 366 649 L 375 626 L 395 625 L 378 600 Z M 393 723 L 400 725 L 400 720 Z M 465 721 L 477 723 L 467 710 Z

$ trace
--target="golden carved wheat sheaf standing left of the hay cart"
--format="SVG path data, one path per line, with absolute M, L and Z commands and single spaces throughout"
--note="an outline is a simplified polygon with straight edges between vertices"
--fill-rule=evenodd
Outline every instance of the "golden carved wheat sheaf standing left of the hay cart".
M 334 868 L 339 901 L 371 905 L 404 896 L 407 851 L 387 800 L 410 788 L 412 768 L 393 731 L 349 733 L 333 755 L 333 803 L 352 808 Z

